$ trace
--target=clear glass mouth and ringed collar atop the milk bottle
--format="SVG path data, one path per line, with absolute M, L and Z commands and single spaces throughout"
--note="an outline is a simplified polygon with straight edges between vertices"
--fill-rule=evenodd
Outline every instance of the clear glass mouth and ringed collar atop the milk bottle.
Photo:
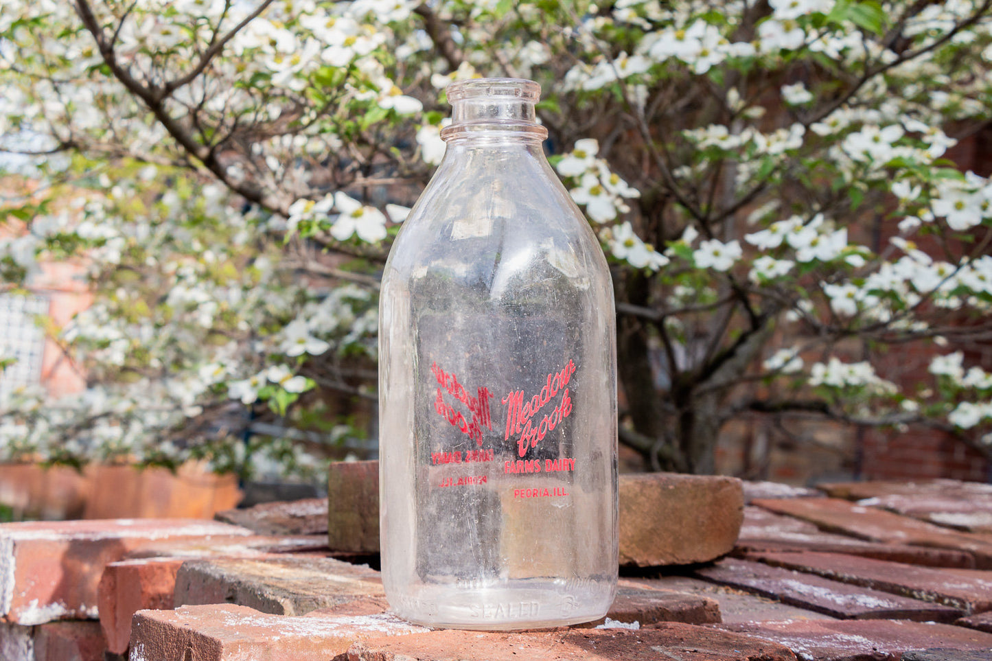
M 535 104 L 541 98 L 541 85 L 525 78 L 471 78 L 447 86 L 451 104 L 451 125 L 440 132 L 448 141 L 465 136 L 498 131 L 544 140 L 548 130 L 538 124 Z

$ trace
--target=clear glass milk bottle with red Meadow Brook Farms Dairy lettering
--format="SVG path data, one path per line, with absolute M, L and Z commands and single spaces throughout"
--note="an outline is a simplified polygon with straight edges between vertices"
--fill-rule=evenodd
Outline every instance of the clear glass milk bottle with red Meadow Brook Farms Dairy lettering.
M 616 592 L 613 288 L 539 94 L 448 86 L 447 151 L 383 276 L 383 583 L 428 626 L 583 622 Z

